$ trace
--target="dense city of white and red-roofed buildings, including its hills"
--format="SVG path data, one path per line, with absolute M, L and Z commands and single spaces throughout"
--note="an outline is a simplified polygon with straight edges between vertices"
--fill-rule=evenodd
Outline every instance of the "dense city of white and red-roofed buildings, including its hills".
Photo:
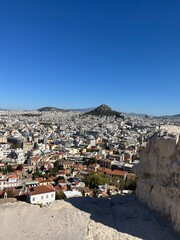
M 111 113 L 117 112 L 107 105 L 86 113 L 1 111 L 1 198 L 44 205 L 132 193 L 137 180 L 133 166 L 167 120 Z

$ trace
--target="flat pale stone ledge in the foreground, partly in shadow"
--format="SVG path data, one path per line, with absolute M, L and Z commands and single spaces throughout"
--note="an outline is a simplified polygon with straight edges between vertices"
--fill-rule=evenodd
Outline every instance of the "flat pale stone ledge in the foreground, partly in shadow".
M 177 240 L 134 195 L 59 200 L 49 207 L 0 204 L 0 219 L 5 240 Z

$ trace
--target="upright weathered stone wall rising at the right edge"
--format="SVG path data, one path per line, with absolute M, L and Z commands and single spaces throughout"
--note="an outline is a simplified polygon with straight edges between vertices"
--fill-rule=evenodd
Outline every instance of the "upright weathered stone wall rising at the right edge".
M 149 141 L 134 171 L 136 194 L 166 216 L 180 233 L 180 127 L 163 126 Z

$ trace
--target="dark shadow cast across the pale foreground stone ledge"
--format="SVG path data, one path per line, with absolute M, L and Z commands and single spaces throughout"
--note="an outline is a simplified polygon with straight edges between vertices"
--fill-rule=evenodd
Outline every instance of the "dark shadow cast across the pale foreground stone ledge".
M 115 196 L 112 199 L 81 197 L 65 201 L 89 213 L 95 222 L 140 239 L 180 239 L 164 218 L 140 203 L 135 195 Z

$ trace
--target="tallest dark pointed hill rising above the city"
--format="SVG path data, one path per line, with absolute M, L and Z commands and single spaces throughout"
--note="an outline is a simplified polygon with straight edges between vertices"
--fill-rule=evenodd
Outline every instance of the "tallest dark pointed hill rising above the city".
M 84 113 L 84 115 L 123 117 L 120 112 L 112 110 L 106 104 L 102 104 L 94 110 Z

